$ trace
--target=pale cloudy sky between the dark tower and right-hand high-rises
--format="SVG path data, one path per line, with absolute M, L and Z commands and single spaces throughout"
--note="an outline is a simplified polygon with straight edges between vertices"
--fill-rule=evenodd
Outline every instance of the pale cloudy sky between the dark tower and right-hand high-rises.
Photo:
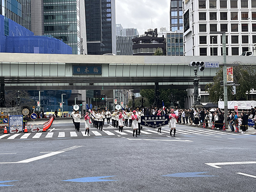
M 116 0 L 116 24 L 137 28 L 139 34 L 148 29 L 170 26 L 170 0 Z

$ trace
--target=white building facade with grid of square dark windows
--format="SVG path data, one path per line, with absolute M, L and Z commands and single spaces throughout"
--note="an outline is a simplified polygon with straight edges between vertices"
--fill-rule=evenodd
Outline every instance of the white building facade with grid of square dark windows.
M 256 43 L 256 0 L 183 0 L 184 55 L 241 55 Z

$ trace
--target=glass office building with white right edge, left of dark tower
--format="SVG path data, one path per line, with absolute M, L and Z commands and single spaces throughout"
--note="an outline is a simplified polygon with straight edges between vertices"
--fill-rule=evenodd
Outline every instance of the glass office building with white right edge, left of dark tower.
M 44 35 L 62 39 L 73 54 L 87 54 L 84 0 L 43 0 Z

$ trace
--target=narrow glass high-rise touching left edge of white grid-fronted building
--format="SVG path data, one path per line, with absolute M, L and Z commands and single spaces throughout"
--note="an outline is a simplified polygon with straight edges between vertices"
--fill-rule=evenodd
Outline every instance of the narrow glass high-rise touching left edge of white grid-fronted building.
M 170 31 L 183 30 L 182 0 L 171 0 Z

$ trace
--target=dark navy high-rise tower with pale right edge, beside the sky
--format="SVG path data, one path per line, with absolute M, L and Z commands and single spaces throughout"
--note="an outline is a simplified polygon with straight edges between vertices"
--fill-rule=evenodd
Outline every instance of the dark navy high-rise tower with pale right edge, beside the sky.
M 85 0 L 88 55 L 116 54 L 115 0 Z

